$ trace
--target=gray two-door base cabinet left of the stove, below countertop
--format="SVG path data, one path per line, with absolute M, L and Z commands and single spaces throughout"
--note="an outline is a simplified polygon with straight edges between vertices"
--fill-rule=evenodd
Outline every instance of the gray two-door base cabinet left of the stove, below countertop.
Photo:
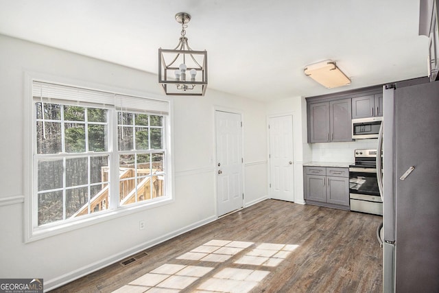
M 349 209 L 349 171 L 340 167 L 304 167 L 305 202 Z

